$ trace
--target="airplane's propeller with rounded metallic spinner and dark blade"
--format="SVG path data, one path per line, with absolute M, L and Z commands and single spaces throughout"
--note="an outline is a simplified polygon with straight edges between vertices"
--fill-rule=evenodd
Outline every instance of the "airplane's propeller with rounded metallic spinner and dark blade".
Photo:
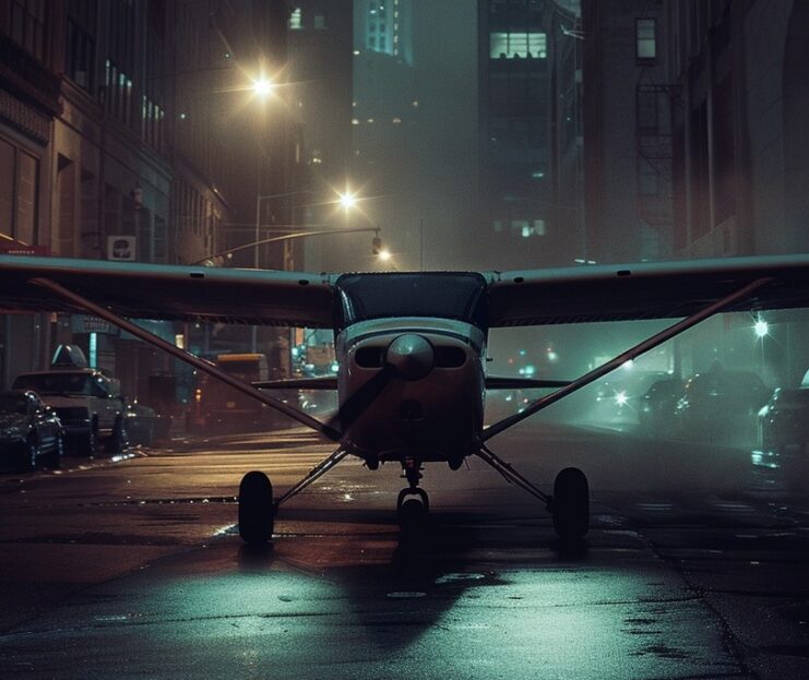
M 391 381 L 420 380 L 429 374 L 435 362 L 435 349 L 426 337 L 405 333 L 394 338 L 384 351 L 382 368 L 345 401 L 329 421 L 330 426 L 334 427 L 340 422 L 345 432 L 382 394 Z

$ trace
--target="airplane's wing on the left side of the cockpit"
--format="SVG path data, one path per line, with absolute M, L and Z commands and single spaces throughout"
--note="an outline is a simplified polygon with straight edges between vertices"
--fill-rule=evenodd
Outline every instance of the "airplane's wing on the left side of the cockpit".
M 32 285 L 37 278 L 132 319 L 332 327 L 332 286 L 321 275 L 0 255 L 0 310 L 86 313 Z

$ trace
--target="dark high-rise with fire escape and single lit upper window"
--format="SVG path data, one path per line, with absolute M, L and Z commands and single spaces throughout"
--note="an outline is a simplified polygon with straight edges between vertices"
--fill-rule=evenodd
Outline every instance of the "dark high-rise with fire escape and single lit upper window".
M 582 0 L 588 257 L 673 255 L 671 110 L 665 11 L 654 0 Z

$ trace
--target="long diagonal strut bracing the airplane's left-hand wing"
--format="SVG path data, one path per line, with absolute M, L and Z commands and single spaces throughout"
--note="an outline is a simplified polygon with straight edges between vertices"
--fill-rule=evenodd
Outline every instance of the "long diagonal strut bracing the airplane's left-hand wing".
M 119 317 L 118 314 L 96 305 L 95 302 L 87 300 L 86 298 L 73 293 L 72 290 L 63 288 L 56 282 L 52 282 L 49 278 L 32 278 L 28 283 L 41 288 L 46 288 L 53 295 L 69 300 L 78 307 L 87 310 L 91 314 L 95 314 L 96 317 L 100 317 L 105 321 L 109 321 L 109 323 L 118 326 L 119 329 L 122 329 L 127 333 L 131 333 L 135 337 L 140 337 L 143 342 L 150 343 L 151 345 L 154 345 L 155 347 L 167 351 L 171 356 L 178 358 L 180 361 L 190 363 L 195 369 L 207 373 L 209 375 L 213 375 L 217 380 L 221 380 L 222 382 L 230 385 L 235 390 L 238 390 L 239 392 L 242 392 L 248 396 L 258 399 L 262 404 L 266 404 L 270 408 L 279 410 L 284 415 L 289 416 L 293 420 L 301 422 L 302 425 L 320 432 L 324 437 L 328 437 L 330 440 L 335 442 L 340 441 L 340 432 L 337 432 L 337 430 L 325 425 L 324 422 L 321 422 L 317 418 L 312 418 L 309 414 L 305 414 L 304 411 L 300 411 L 297 408 L 289 406 L 288 404 L 284 404 L 284 402 L 282 402 L 281 399 L 276 399 L 269 394 L 265 394 L 261 390 L 253 387 L 250 383 L 239 380 L 238 378 L 235 378 L 234 375 L 230 375 L 229 373 L 218 369 L 210 361 L 200 359 L 191 353 L 186 351 L 185 349 L 180 349 L 171 343 L 167 343 L 162 337 L 158 337 L 157 335 L 150 333 L 148 331 L 144 331 L 143 329 L 135 325 L 131 321 L 128 321 L 123 317 Z

